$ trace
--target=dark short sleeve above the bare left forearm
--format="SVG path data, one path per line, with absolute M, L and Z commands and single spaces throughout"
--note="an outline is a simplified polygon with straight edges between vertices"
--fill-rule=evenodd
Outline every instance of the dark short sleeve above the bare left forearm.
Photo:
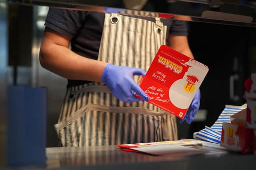
M 73 37 L 84 23 L 87 12 L 50 8 L 44 25 L 61 33 Z

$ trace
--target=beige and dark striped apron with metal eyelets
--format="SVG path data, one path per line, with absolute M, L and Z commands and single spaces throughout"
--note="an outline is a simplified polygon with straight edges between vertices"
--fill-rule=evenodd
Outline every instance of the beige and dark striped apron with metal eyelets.
M 166 44 L 166 29 L 159 18 L 153 22 L 106 13 L 98 60 L 148 70 L 160 45 Z M 174 115 L 148 102 L 124 103 L 98 82 L 68 88 L 54 126 L 64 147 L 178 138 Z

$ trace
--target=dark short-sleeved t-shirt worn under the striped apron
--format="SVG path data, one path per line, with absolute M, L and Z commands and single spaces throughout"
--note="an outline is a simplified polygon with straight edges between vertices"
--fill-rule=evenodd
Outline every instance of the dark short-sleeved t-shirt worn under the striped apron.
M 72 37 L 71 50 L 74 53 L 97 60 L 104 18 L 105 13 L 100 12 L 50 8 L 44 25 L 58 33 Z M 136 18 L 143 18 L 155 22 L 154 18 Z M 172 18 L 161 19 L 161 21 L 164 25 L 167 25 L 167 34 L 187 35 L 186 23 L 184 21 L 172 20 Z M 166 36 L 166 44 L 168 42 L 167 40 L 168 35 Z M 67 87 L 78 86 L 88 82 L 68 80 Z

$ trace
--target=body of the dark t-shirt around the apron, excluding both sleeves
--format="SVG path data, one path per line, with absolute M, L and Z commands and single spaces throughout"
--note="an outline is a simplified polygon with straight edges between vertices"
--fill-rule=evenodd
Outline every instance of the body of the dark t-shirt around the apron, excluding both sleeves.
M 84 20 L 82 26 L 73 37 L 71 41 L 72 51 L 78 55 L 90 58 L 98 59 L 100 40 L 102 37 L 102 30 L 104 27 L 105 13 L 100 12 L 86 12 L 86 19 Z M 130 16 L 134 18 L 142 18 L 155 22 L 155 18 L 141 17 L 141 16 Z M 166 34 L 169 33 L 170 26 L 172 25 L 172 18 L 161 19 L 163 25 L 167 26 Z M 166 42 L 168 35 L 166 35 Z M 90 81 L 82 80 L 70 80 L 68 79 L 67 87 L 78 86 L 81 84 L 89 83 Z

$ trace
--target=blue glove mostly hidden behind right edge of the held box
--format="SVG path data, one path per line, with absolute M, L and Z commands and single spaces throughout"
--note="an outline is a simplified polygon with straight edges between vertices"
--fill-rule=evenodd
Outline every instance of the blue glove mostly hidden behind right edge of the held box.
M 193 120 L 194 117 L 196 115 L 196 113 L 198 112 L 198 109 L 200 107 L 200 89 L 198 89 L 198 91 L 196 92 L 196 95 L 194 96 L 190 106 L 188 107 L 188 111 L 184 117 L 184 119 L 180 120 L 180 123 L 182 123 L 184 120 L 186 120 L 186 122 L 188 124 L 190 124 Z

